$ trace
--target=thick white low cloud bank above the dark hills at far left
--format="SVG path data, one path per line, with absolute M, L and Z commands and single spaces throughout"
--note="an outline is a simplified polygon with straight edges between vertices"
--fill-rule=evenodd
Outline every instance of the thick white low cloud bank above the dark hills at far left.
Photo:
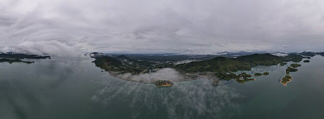
M 1 51 L 4 53 L 14 52 L 33 55 L 48 54 L 57 57 L 76 57 L 82 55 L 82 52 L 78 48 L 68 46 L 65 43 L 55 40 L 36 42 L 25 41 L 17 45 L 4 47 Z

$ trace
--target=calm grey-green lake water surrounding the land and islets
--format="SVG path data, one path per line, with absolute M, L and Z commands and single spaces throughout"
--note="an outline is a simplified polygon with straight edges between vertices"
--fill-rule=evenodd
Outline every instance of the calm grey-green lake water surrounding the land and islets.
M 114 78 L 92 60 L 0 63 L 0 119 L 324 118 L 321 56 L 299 62 L 302 66 L 291 73 L 287 86 L 278 82 L 287 66 L 255 67 L 253 71 L 269 70 L 270 75 L 245 84 L 214 87 L 199 79 L 158 88 Z

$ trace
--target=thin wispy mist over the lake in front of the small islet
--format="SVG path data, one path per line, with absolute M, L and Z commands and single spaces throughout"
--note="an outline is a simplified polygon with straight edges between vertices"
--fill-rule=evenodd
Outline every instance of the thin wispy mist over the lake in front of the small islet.
M 232 99 L 242 97 L 226 85 L 212 86 L 208 79 L 176 82 L 170 88 L 126 81 L 102 83 L 105 87 L 91 99 L 107 107 L 114 105 L 116 100 L 129 100 L 130 114 L 136 119 L 220 118 L 222 110 L 239 107 L 231 102 Z

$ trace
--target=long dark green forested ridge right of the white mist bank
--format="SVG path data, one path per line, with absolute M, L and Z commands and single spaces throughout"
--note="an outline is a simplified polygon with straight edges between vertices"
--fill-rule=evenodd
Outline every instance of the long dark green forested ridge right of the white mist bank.
M 288 55 L 286 57 L 271 54 L 254 54 L 238 58 L 216 57 L 211 60 L 193 61 L 178 64 L 175 68 L 182 72 L 233 72 L 238 70 L 250 70 L 257 65 L 277 65 L 285 61 L 299 62 L 303 60 L 300 55 Z

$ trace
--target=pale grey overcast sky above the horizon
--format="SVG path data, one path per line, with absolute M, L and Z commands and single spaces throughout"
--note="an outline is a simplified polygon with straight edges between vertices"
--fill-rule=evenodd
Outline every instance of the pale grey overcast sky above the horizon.
M 0 0 L 0 49 L 324 51 L 324 0 Z

